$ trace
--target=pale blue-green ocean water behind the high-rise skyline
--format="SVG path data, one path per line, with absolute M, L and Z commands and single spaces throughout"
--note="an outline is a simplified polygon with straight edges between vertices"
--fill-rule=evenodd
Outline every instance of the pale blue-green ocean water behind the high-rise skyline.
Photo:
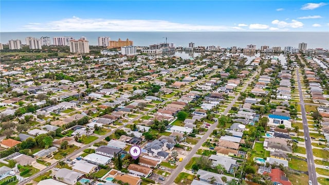
M 5 44 L 11 39 L 20 39 L 25 44 L 25 38 L 32 36 L 40 38 L 49 36 L 52 43 L 54 36 L 74 36 L 79 39 L 85 36 L 90 45 L 98 45 L 98 36 L 109 36 L 111 40 L 132 40 L 135 46 L 149 46 L 167 42 L 175 46 L 246 47 L 249 44 L 260 48 L 262 45 L 298 47 L 298 43 L 307 43 L 307 48 L 329 49 L 329 32 L 0 32 L 0 42 Z

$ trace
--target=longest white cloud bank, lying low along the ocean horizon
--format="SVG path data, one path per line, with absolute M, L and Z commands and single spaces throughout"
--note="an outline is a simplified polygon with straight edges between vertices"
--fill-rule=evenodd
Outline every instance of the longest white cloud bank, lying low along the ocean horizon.
M 102 18 L 64 18 L 47 23 L 29 23 L 25 31 L 231 31 L 240 27 L 182 24 L 162 20 L 106 20 Z

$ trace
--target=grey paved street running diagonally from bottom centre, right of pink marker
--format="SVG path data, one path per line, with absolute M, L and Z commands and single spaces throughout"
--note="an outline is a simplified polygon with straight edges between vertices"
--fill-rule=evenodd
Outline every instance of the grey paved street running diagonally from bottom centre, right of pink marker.
M 246 88 L 248 87 L 248 85 L 253 81 L 253 78 L 258 75 L 258 73 L 260 72 L 260 70 L 258 70 L 257 72 L 254 73 L 254 75 L 252 76 L 252 78 L 248 81 L 248 83 L 243 87 L 243 89 L 241 90 L 241 92 L 245 91 Z M 239 98 L 239 95 L 235 96 L 234 100 L 232 100 L 232 102 L 226 107 L 226 109 L 224 110 L 222 115 L 226 115 L 229 110 L 231 109 L 231 107 L 234 105 L 234 103 L 236 102 L 237 98 Z M 210 136 L 210 134 L 212 133 L 212 131 L 217 127 L 218 125 L 218 121 L 216 121 L 214 124 L 212 124 L 209 127 L 209 130 L 207 131 L 207 133 L 196 143 L 196 145 L 192 148 L 191 152 L 184 158 L 184 160 L 182 160 L 177 168 L 171 173 L 171 175 L 166 179 L 164 184 L 168 184 L 171 185 L 173 184 L 175 178 L 177 177 L 177 175 L 182 172 L 184 170 L 184 167 L 186 166 L 186 164 L 191 160 L 191 158 L 194 156 L 194 154 L 197 152 L 197 150 L 201 147 L 202 143 L 204 143 L 207 138 Z

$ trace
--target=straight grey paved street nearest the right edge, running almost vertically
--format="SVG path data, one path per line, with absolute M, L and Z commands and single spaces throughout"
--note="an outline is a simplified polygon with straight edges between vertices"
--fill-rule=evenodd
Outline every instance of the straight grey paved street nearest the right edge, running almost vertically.
M 307 140 L 305 140 L 305 146 L 306 146 L 306 156 L 307 156 L 308 178 L 309 178 L 309 180 L 312 180 L 313 185 L 317 185 L 318 184 L 317 174 L 315 171 L 312 145 L 311 145 L 310 138 L 309 138 L 305 104 L 304 104 L 303 93 L 302 93 L 302 85 L 300 83 L 300 76 L 299 76 L 298 69 L 296 70 L 296 73 L 297 73 L 297 79 L 298 79 L 299 101 L 300 101 L 300 108 L 301 108 L 301 112 L 302 112 L 304 136 L 307 137 Z M 306 184 L 306 182 L 305 182 L 305 184 Z

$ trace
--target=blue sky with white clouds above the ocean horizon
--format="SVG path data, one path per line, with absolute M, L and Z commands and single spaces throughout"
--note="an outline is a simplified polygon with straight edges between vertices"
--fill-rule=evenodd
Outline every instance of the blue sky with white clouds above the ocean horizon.
M 329 31 L 329 1 L 0 2 L 0 31 Z

